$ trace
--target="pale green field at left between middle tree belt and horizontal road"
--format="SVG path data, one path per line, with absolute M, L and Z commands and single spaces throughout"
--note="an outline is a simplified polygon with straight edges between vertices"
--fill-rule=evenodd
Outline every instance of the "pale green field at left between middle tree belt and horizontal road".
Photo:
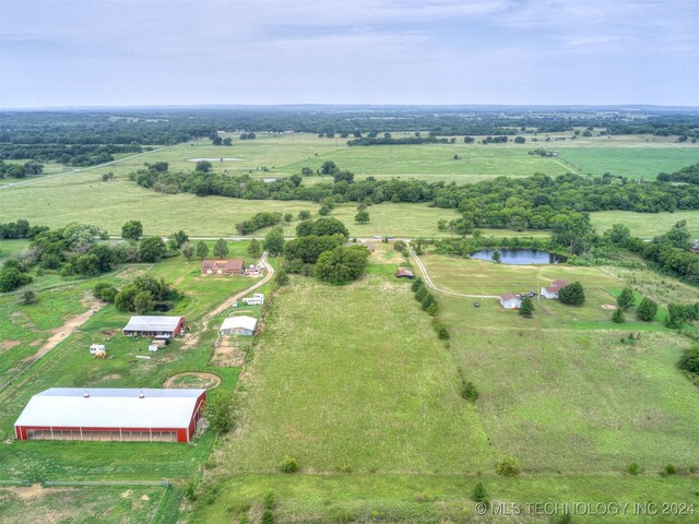
M 135 218 L 143 223 L 146 235 L 170 235 L 185 229 L 192 236 L 237 236 L 236 224 L 262 211 L 292 213 L 318 210 L 315 202 L 256 201 L 194 194 L 164 194 L 143 189 L 133 182 L 117 180 L 99 182 L 93 178 L 46 180 L 13 189 L 12 198 L 0 192 L 0 222 L 29 217 L 32 224 L 51 227 L 70 223 L 98 226 L 111 235 L 120 235 L 125 222 Z M 57 186 L 58 184 L 58 186 Z M 17 199 L 17 200 L 15 200 Z M 87 205 L 87 201 L 99 205 Z M 57 210 L 60 210 L 57 212 Z M 439 236 L 437 222 L 459 217 L 455 210 L 428 207 L 427 204 L 393 204 L 371 206 L 371 221 L 356 224 L 356 205 L 341 205 L 333 211 L 353 236 Z M 294 235 L 296 222 L 286 227 Z M 256 231 L 264 235 L 266 230 Z M 0 247 L 0 249 L 2 249 Z M 1 255 L 1 253 L 0 253 Z

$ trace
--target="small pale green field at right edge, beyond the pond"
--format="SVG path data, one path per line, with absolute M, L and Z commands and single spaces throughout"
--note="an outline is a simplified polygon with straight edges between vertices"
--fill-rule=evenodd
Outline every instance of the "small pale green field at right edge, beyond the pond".
M 631 235 L 641 238 L 664 235 L 680 221 L 687 221 L 689 230 L 699 238 L 699 211 L 676 211 L 675 213 L 599 211 L 590 213 L 590 222 L 597 233 L 611 229 L 614 224 L 624 224 L 631 230 Z

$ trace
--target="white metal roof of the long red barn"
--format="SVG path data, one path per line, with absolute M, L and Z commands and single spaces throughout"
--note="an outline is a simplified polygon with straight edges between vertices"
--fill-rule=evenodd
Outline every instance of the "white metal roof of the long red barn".
M 51 388 L 34 395 L 14 425 L 186 428 L 197 407 L 197 398 L 204 391 Z M 141 394 L 143 398 L 140 398 Z

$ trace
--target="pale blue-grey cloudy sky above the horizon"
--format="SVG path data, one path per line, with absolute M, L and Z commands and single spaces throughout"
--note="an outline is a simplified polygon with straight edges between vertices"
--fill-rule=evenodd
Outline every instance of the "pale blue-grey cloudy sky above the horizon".
M 699 0 L 0 0 L 0 107 L 699 106 Z

